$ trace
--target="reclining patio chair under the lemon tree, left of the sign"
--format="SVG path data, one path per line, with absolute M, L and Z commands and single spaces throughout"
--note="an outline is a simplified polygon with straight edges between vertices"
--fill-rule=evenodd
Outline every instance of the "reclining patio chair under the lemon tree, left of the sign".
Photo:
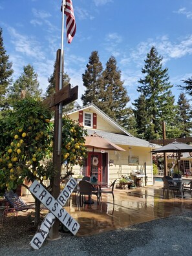
M 6 201 L 8 202 L 9 206 L 3 211 L 3 217 L 2 217 L 2 224 L 4 224 L 5 215 L 8 213 L 16 213 L 18 211 L 28 211 L 28 209 L 35 209 L 35 204 L 25 204 L 21 197 L 14 193 L 14 191 L 6 191 L 4 194 L 4 197 Z

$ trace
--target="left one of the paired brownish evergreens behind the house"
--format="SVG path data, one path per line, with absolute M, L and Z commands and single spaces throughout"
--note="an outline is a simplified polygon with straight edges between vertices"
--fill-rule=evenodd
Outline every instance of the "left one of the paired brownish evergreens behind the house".
M 101 74 L 103 66 L 97 51 L 91 52 L 89 63 L 86 67 L 85 73 L 82 74 L 83 85 L 86 88 L 85 93 L 81 96 L 83 106 L 87 105 L 87 103 L 94 103 L 96 106 L 101 107 L 101 98 L 103 96 Z

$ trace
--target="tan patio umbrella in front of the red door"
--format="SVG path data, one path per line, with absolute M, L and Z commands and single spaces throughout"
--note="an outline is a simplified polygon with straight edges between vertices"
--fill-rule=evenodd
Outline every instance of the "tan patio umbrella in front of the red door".
M 98 136 L 98 134 L 94 133 L 91 136 L 85 137 L 85 147 L 92 149 L 92 156 L 94 155 L 94 149 L 105 149 L 105 150 L 114 150 L 114 151 L 125 151 L 122 147 L 119 147 L 109 140 Z M 92 175 L 92 161 L 91 161 L 91 175 Z

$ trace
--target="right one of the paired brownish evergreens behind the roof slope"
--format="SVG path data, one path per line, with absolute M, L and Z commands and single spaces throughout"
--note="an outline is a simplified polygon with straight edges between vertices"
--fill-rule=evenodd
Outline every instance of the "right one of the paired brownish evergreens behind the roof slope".
M 111 56 L 106 63 L 106 69 L 102 73 L 103 97 L 101 110 L 108 114 L 122 126 L 127 124 L 127 114 L 130 109 L 127 108 L 129 96 L 123 87 L 121 80 L 121 71 L 116 66 L 116 59 Z

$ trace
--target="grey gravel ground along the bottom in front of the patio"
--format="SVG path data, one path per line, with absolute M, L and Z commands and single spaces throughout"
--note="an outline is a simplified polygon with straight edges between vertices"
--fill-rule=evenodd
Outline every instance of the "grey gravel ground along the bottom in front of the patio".
M 28 224 L 28 221 L 25 224 L 22 216 L 17 217 L 17 221 L 12 218 L 14 217 L 7 218 L 4 227 L 0 226 L 0 255 L 3 256 L 180 256 L 191 255 L 192 251 L 192 212 L 135 224 L 90 237 L 61 233 L 61 239 L 45 240 L 39 250 L 33 250 L 29 245 L 36 233 L 32 222 Z

